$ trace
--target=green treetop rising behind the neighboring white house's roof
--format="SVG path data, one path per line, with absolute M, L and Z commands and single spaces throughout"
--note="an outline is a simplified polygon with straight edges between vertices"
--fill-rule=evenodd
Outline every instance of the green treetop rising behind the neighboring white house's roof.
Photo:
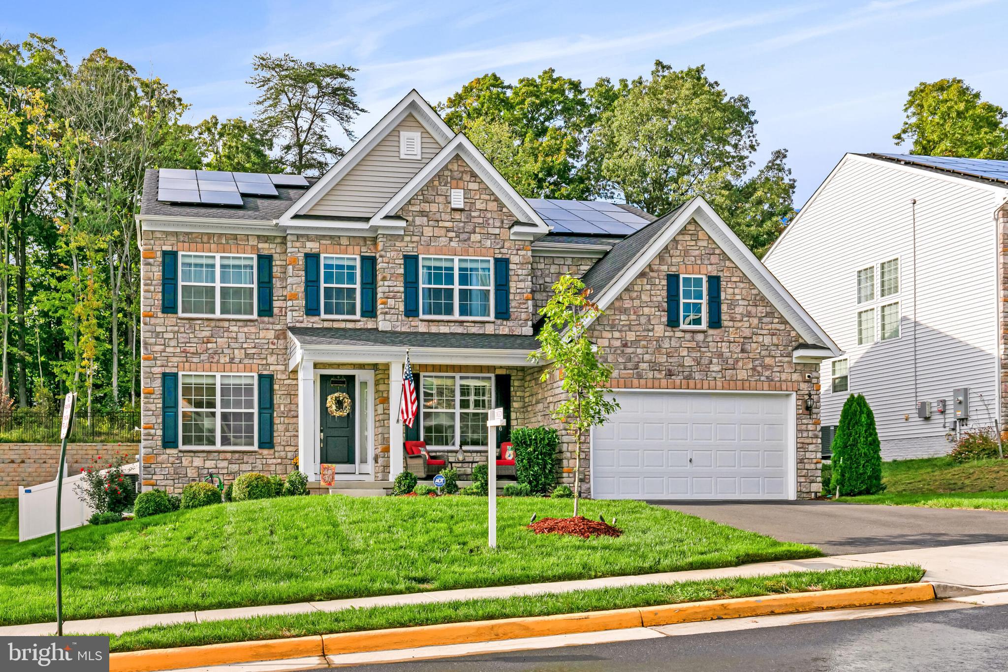
M 1008 159 L 1008 112 L 981 100 L 963 80 L 921 82 L 907 95 L 896 144 L 911 154 Z

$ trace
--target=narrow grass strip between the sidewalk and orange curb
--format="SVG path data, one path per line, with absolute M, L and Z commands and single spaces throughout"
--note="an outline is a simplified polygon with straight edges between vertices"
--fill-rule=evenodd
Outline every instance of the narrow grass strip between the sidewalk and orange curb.
M 466 599 L 429 604 L 372 607 L 332 613 L 314 612 L 311 614 L 268 616 L 143 628 L 123 633 L 120 636 L 112 636 L 111 647 L 112 651 L 136 651 L 138 649 L 199 646 L 383 628 L 407 628 L 438 623 L 576 614 L 726 597 L 751 597 L 807 590 L 913 583 L 920 580 L 923 573 L 920 567 L 912 565 L 859 567 L 855 569 L 831 569 L 829 571 L 788 572 L 771 576 L 573 590 L 557 594 L 521 597 Z M 431 642 L 431 644 L 436 644 L 436 642 Z

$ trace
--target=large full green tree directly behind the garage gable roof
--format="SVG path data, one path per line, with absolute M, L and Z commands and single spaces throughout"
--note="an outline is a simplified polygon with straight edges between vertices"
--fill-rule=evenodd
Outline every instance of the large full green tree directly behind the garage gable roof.
M 612 101 L 591 136 L 600 190 L 652 214 L 707 198 L 757 253 L 793 215 L 794 180 L 786 150 L 755 175 L 756 114 L 745 96 L 730 96 L 703 65 L 682 71 L 655 61 L 649 79 L 601 82 L 595 98 Z

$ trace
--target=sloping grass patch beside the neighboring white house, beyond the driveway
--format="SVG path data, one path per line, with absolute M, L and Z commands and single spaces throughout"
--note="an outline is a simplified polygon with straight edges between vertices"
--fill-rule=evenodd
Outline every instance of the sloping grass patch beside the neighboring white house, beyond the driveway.
M 1008 459 L 957 464 L 950 457 L 882 462 L 880 495 L 843 497 L 840 502 L 935 509 L 1008 511 Z

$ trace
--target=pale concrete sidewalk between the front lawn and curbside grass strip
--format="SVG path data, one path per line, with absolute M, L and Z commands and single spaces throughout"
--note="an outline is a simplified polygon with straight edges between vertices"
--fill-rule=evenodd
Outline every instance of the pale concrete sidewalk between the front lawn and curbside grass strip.
M 77 635 L 93 635 L 98 633 L 119 635 L 148 626 L 208 623 L 227 619 L 249 619 L 259 616 L 307 614 L 311 612 L 339 612 L 349 608 L 393 607 L 398 604 L 419 604 L 480 597 L 511 597 L 732 576 L 765 576 L 788 571 L 823 571 L 872 564 L 918 564 L 926 572 L 923 580 L 964 586 L 964 592 L 960 594 L 1004 590 L 1005 587 L 1000 584 L 1008 584 L 1008 542 L 940 548 L 918 548 L 885 553 L 811 558 L 808 560 L 760 562 L 739 567 L 696 569 L 691 571 L 638 574 L 635 576 L 610 576 L 575 581 L 552 581 L 547 583 L 462 588 L 457 590 L 433 590 L 397 595 L 294 602 L 266 607 L 241 607 L 205 612 L 179 612 L 174 614 L 151 614 L 109 619 L 91 619 L 87 621 L 68 621 L 64 624 L 64 629 L 68 633 Z M 54 632 L 55 623 L 38 623 L 0 628 L 0 636 L 44 636 L 52 635 Z

